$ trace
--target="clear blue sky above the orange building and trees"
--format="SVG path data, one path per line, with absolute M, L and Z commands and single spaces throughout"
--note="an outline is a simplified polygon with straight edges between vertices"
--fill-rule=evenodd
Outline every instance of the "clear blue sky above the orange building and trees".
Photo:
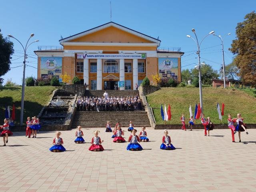
M 197 63 L 195 42 L 186 35 L 193 35 L 192 28 L 201 40 L 214 30 L 225 36 L 225 63 L 232 61 L 228 51 L 236 38 L 235 29 L 244 16 L 256 8 L 255 0 L 112 0 L 112 21 L 154 38 L 159 36 L 161 47 L 181 47 L 182 69 L 193 68 Z M 26 44 L 31 33 L 32 40 L 40 40 L 28 48 L 26 76 L 37 74 L 37 46 L 60 46 L 60 36 L 70 35 L 110 22 L 110 0 L 44 0 L 20 1 L 1 0 L 0 6 L 2 34 L 12 34 L 22 44 Z M 22 47 L 14 39 L 15 53 L 12 68 L 4 78 L 12 78 L 22 84 Z M 217 37 L 208 36 L 202 42 L 201 61 L 219 69 L 222 64 L 221 42 Z M 20 67 L 17 67 L 20 66 Z M 33 68 L 34 67 L 34 68 Z

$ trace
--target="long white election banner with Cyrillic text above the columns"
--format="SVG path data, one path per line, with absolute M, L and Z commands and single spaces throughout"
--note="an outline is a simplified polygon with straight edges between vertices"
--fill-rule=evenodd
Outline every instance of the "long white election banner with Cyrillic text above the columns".
M 143 54 L 77 54 L 77 59 L 146 59 Z

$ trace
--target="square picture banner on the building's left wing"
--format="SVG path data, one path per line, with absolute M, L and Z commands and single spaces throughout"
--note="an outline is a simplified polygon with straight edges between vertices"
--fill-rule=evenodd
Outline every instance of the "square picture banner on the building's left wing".
M 41 57 L 41 78 L 56 76 L 61 82 L 62 57 Z

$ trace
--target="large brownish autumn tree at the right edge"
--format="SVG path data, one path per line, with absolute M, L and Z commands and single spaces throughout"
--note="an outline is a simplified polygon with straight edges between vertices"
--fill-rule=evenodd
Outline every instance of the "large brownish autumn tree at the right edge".
M 246 14 L 243 22 L 236 26 L 236 39 L 232 41 L 230 51 L 236 54 L 234 64 L 238 67 L 238 76 L 246 83 L 256 84 L 256 13 Z

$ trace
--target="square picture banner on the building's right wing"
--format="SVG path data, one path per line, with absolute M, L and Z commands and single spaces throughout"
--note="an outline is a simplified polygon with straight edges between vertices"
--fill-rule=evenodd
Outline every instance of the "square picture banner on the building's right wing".
M 160 77 L 178 80 L 178 58 L 158 58 L 158 73 Z

